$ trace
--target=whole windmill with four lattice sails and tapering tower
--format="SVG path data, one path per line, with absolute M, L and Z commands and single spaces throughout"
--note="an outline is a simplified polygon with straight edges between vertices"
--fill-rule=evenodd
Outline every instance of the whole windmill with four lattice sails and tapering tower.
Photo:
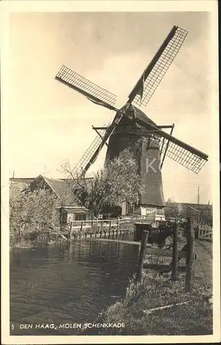
M 147 106 L 162 77 L 176 57 L 187 37 L 187 30 L 173 26 L 160 48 L 131 90 L 125 106 L 114 105 L 116 96 L 85 79 L 66 66 L 62 66 L 55 79 L 80 92 L 98 106 L 115 112 L 113 121 L 107 126 L 94 127 L 97 136 L 74 167 L 74 176 L 85 175 L 94 164 L 103 146 L 107 145 L 107 157 L 112 159 L 125 148 L 139 147 L 137 163 L 145 182 L 145 191 L 140 195 L 140 213 L 153 210 L 163 214 L 165 200 L 162 192 L 161 168 L 165 157 L 173 159 L 185 168 L 198 174 L 208 156 L 189 144 L 172 136 L 174 124 L 158 126 L 137 106 Z M 166 132 L 170 129 L 170 133 Z

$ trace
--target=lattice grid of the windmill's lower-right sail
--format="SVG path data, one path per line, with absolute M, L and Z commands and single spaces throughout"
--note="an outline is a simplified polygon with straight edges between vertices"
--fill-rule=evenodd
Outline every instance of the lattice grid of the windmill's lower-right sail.
M 162 155 L 164 155 L 166 152 L 166 157 L 173 159 L 173 161 L 178 162 L 196 174 L 198 174 L 198 172 L 207 162 L 206 159 L 199 157 L 193 152 L 190 152 L 189 150 L 182 148 L 181 146 L 168 141 L 163 137 L 160 138 L 160 151 Z

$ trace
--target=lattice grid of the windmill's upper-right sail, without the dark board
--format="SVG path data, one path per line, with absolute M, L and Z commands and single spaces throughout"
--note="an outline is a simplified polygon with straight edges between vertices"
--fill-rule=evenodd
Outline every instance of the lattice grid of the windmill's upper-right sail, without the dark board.
M 171 63 L 175 59 L 178 51 L 180 50 L 182 43 L 185 41 L 187 33 L 187 30 L 177 27 L 176 33 L 167 44 L 167 47 L 162 52 L 162 55 L 160 55 L 160 58 L 158 59 L 154 68 L 151 70 L 147 79 L 144 82 L 143 97 L 140 97 L 140 95 L 137 94 L 134 98 L 133 102 L 136 103 L 138 106 L 147 106 L 147 103 L 151 99 L 152 95 L 154 95 L 154 92 L 158 87 L 160 81 L 164 77 L 169 66 L 171 66 Z

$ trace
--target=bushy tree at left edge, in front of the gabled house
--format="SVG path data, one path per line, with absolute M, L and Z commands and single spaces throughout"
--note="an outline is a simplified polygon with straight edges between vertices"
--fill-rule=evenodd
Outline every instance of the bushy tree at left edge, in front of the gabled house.
M 10 238 L 19 242 L 30 233 L 52 226 L 55 199 L 45 189 L 33 192 L 23 186 L 10 186 Z

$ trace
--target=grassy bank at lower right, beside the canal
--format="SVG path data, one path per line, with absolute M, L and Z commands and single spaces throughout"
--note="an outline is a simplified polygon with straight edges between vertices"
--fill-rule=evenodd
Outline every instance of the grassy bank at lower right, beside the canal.
M 107 308 L 95 323 L 124 323 L 125 328 L 94 328 L 83 334 L 99 335 L 209 335 L 213 333 L 212 289 L 195 278 L 185 293 L 185 275 L 171 282 L 169 274 L 144 270 L 140 282 L 129 281 L 125 298 Z M 162 310 L 153 308 L 180 302 Z M 99 331 L 100 330 L 100 331 Z

